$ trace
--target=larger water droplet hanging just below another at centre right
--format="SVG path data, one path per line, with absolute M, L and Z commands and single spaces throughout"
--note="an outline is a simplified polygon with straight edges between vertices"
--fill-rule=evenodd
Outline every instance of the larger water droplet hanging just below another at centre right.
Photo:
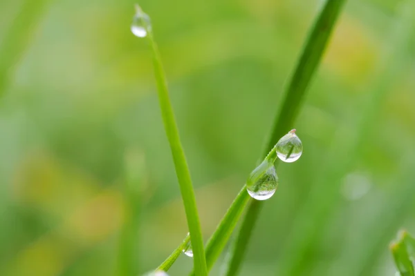
M 272 197 L 277 190 L 278 177 L 273 161 L 264 160 L 255 170 L 252 170 L 246 181 L 248 194 L 257 200 Z

